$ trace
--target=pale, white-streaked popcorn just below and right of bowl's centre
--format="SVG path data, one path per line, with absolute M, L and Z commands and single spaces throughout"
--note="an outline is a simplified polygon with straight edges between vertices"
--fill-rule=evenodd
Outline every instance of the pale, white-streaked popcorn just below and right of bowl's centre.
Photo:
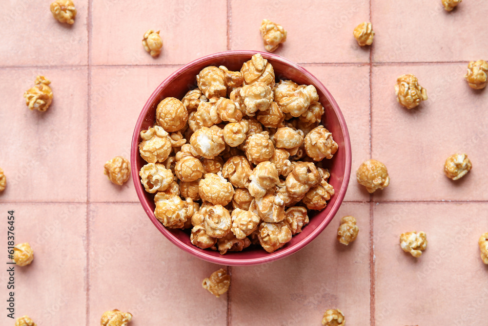
M 256 198 L 263 197 L 266 190 L 280 182 L 276 166 L 269 161 L 259 163 L 249 175 L 249 180 L 247 189 Z

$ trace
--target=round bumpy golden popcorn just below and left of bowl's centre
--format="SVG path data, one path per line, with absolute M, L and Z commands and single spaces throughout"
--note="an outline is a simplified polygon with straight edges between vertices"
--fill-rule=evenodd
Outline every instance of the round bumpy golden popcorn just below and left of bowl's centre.
M 207 173 L 198 183 L 198 193 L 203 201 L 209 201 L 214 205 L 225 206 L 231 202 L 234 196 L 234 188 L 222 173 Z

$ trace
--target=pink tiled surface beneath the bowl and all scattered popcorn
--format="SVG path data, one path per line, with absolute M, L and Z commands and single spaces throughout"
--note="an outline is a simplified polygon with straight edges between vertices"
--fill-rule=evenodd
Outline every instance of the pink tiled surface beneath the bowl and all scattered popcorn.
M 488 59 L 487 1 L 465 0 L 448 13 L 440 0 L 77 0 L 73 26 L 55 21 L 49 3 L 0 4 L 0 167 L 8 182 L 0 240 L 6 246 L 6 212 L 15 210 L 16 242 L 35 252 L 31 265 L 16 268 L 16 317 L 88 326 L 118 308 L 134 315 L 134 326 L 320 325 L 326 309 L 339 308 L 347 325 L 487 325 L 488 266 L 477 240 L 488 231 L 488 91 L 463 79 L 468 61 Z M 220 266 L 165 239 L 131 180 L 111 184 L 103 164 L 129 156 L 142 106 L 178 67 L 228 49 L 263 50 L 263 18 L 288 31 L 275 53 L 315 74 L 342 109 L 353 176 L 317 239 L 281 261 L 229 267 L 231 288 L 217 299 L 201 282 Z M 376 32 L 370 48 L 352 37 L 363 21 Z M 141 44 L 149 28 L 161 29 L 157 59 Z M 393 85 L 405 73 L 427 89 L 418 109 L 396 102 Z M 22 97 L 38 74 L 54 93 L 44 113 Z M 454 152 L 473 163 L 457 182 L 442 174 Z M 374 195 L 354 180 L 370 157 L 391 177 Z M 345 215 L 360 228 L 348 247 L 335 239 Z M 417 260 L 398 244 L 413 230 L 429 241 Z M 5 315 L 0 324 L 13 325 Z

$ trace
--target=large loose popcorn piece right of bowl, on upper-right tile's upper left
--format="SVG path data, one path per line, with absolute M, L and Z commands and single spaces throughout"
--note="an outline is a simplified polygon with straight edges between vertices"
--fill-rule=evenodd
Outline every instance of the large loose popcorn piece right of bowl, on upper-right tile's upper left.
M 413 109 L 420 104 L 420 101 L 427 100 L 427 90 L 419 85 L 419 80 L 414 75 L 398 77 L 395 94 L 398 103 L 407 109 Z

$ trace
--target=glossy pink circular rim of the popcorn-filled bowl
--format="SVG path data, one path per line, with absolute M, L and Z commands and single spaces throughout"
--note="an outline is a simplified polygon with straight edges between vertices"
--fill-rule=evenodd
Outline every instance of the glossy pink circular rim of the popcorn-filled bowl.
M 336 194 L 337 196 L 336 201 L 334 202 L 333 206 L 330 208 L 329 213 L 327 216 L 324 218 L 324 220 L 303 240 L 300 242 L 296 243 L 292 247 L 289 248 L 282 248 L 280 250 L 275 251 L 272 254 L 269 254 L 269 256 L 264 256 L 264 257 L 259 257 L 259 258 L 250 258 L 250 259 L 240 259 L 240 260 L 229 260 L 225 258 L 225 255 L 221 256 L 211 256 L 211 255 L 206 255 L 203 254 L 201 249 L 198 247 L 191 247 L 191 246 L 186 246 L 183 242 L 181 242 L 180 239 L 178 239 L 175 235 L 173 235 L 170 231 L 168 231 L 163 224 L 155 217 L 153 210 L 149 207 L 148 203 L 146 202 L 146 198 L 144 196 L 145 190 L 142 187 L 140 178 L 139 178 L 139 170 L 136 168 L 136 162 L 137 158 L 139 155 L 139 136 L 140 136 L 140 129 L 142 126 L 142 122 L 145 120 L 145 116 L 147 114 L 147 111 L 152 107 L 152 103 L 156 99 L 156 97 L 159 96 L 159 93 L 164 87 L 167 87 L 171 82 L 173 82 L 181 73 L 183 73 L 186 69 L 193 65 L 200 64 L 204 61 L 209 61 L 212 59 L 220 59 L 224 58 L 229 55 L 246 55 L 246 56 L 253 56 L 254 54 L 259 53 L 263 56 L 264 59 L 271 59 L 274 61 L 280 61 L 281 63 L 285 65 L 289 65 L 292 68 L 296 69 L 300 73 L 304 74 L 309 78 L 312 82 L 313 85 L 317 88 L 320 88 L 320 90 L 324 93 L 325 97 L 329 101 L 332 109 L 334 110 L 335 114 L 337 115 L 337 119 L 339 120 L 339 124 L 341 127 L 341 130 L 344 135 L 344 148 L 342 148 L 343 151 L 345 151 L 345 174 L 341 183 L 341 192 L 339 194 Z M 334 97 L 332 94 L 328 91 L 328 89 L 322 84 L 322 82 L 315 77 L 312 73 L 310 73 L 308 70 L 306 70 L 304 67 L 297 65 L 296 63 L 281 57 L 279 55 L 273 54 L 273 53 L 268 53 L 268 52 L 263 52 L 263 51 L 254 51 L 254 50 L 228 50 L 228 51 L 222 51 L 222 52 L 217 52 L 213 53 L 210 55 L 203 56 L 201 58 L 198 58 L 196 60 L 191 61 L 190 63 L 183 65 L 182 67 L 178 68 L 176 71 L 174 71 L 172 74 L 170 74 L 164 81 L 153 91 L 151 96 L 148 98 L 144 106 L 142 107 L 142 111 L 139 114 L 139 118 L 136 122 L 136 126 L 134 129 L 134 133 L 132 135 L 132 144 L 131 144 L 131 152 L 130 152 L 130 163 L 131 163 L 131 175 L 132 175 L 132 181 L 134 183 L 134 187 L 137 193 L 137 196 L 139 198 L 139 201 L 142 205 L 142 208 L 144 209 L 146 215 L 149 217 L 151 222 L 156 226 L 156 228 L 163 234 L 166 239 L 171 241 L 173 244 L 175 244 L 178 248 L 182 249 L 184 252 L 189 253 L 199 259 L 202 259 L 204 261 L 212 262 L 215 264 L 220 264 L 220 265 L 227 265 L 227 266 L 250 266 L 250 265 L 259 265 L 259 264 L 264 264 L 267 262 L 272 262 L 272 261 L 277 261 L 282 258 L 285 258 L 287 256 L 290 256 L 297 251 L 303 249 L 307 244 L 309 244 L 313 239 L 317 238 L 317 236 L 325 229 L 325 227 L 332 221 L 334 216 L 337 214 L 337 211 L 339 210 L 344 197 L 346 196 L 347 188 L 349 185 L 349 179 L 350 179 L 350 174 L 351 174 L 351 167 L 352 167 L 352 152 L 351 152 L 351 141 L 350 141 L 350 136 L 349 136 L 349 131 L 347 129 L 346 125 L 346 120 L 344 118 L 344 115 L 339 108 L 339 105 L 335 101 Z

